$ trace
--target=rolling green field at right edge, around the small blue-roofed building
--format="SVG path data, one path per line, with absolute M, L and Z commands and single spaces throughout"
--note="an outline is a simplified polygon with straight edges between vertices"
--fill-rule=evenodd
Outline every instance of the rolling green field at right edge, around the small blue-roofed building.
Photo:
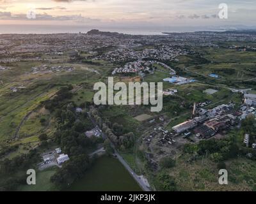
M 198 48 L 200 54 L 209 64 L 198 64 L 189 68 L 190 71 L 208 76 L 216 73 L 221 81 L 241 81 L 256 78 L 256 52 L 242 52 L 228 48 Z M 213 79 L 213 78 L 212 78 Z

